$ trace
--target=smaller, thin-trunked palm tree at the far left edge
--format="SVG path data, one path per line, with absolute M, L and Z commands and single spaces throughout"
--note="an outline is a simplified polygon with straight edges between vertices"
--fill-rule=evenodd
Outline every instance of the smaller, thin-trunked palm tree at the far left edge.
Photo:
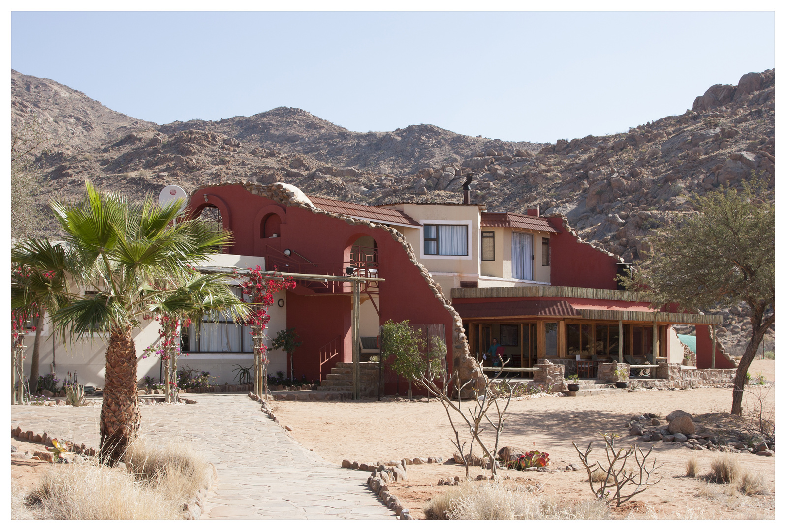
M 60 245 L 46 240 L 26 240 L 14 248 L 14 254 L 30 257 L 24 266 L 17 266 L 11 273 L 11 306 L 27 315 L 38 314 L 35 320 L 35 342 L 30 361 L 30 392 L 34 394 L 39 383 L 39 351 L 41 331 L 46 311 L 57 310 L 68 302 L 65 271 L 65 253 Z

